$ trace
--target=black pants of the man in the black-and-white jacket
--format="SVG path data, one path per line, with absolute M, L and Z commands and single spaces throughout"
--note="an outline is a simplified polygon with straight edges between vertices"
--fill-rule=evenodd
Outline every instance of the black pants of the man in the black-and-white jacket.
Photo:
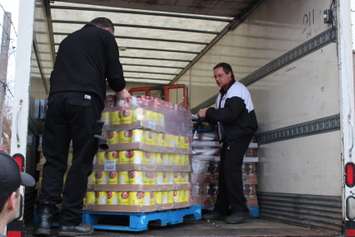
M 252 136 L 224 143 L 219 164 L 218 195 L 215 211 L 221 214 L 248 212 L 243 192 L 242 164 Z

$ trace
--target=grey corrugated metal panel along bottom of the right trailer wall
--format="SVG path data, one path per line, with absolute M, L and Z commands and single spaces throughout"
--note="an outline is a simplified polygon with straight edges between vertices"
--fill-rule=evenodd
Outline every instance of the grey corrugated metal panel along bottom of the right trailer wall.
M 340 232 L 340 196 L 258 192 L 261 216 L 285 223 Z

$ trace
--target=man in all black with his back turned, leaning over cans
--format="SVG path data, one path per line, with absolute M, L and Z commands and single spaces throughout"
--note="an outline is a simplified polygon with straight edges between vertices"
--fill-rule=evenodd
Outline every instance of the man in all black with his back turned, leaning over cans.
M 95 134 L 106 96 L 106 79 L 121 98 L 125 89 L 114 26 L 107 18 L 96 18 L 68 35 L 60 44 L 50 78 L 48 110 L 43 135 L 42 189 L 39 196 L 38 227 L 35 234 L 51 235 L 59 213 L 59 236 L 79 236 L 92 232 L 81 224 L 83 198 L 93 157 L 98 149 Z M 63 190 L 69 144 L 73 162 Z M 61 197 L 62 196 L 62 197 Z M 59 212 L 56 205 L 62 201 Z

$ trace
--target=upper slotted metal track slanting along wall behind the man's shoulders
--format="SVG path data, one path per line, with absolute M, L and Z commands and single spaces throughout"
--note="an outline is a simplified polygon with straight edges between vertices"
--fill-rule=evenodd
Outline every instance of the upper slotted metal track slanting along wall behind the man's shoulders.
M 286 52 L 280 57 L 274 59 L 248 76 L 244 77 L 240 80 L 241 83 L 246 86 L 255 83 L 267 75 L 283 68 L 284 66 L 328 45 L 329 43 L 336 42 L 337 39 L 337 31 L 335 27 L 329 28 L 328 30 L 323 31 L 312 39 L 302 43 L 296 48 Z M 217 98 L 217 95 L 212 96 L 206 101 L 202 102 L 195 108 L 192 108 L 191 111 L 196 113 L 199 109 L 212 105 Z

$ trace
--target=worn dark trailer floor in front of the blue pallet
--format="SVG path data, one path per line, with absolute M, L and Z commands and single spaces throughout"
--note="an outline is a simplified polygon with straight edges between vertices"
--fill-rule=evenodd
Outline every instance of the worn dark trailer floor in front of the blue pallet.
M 241 236 L 241 237 L 293 237 L 293 236 L 339 236 L 340 234 L 329 230 L 309 229 L 294 225 L 288 225 L 263 219 L 252 219 L 246 223 L 239 225 L 224 224 L 223 222 L 207 223 L 200 221 L 198 223 L 184 223 L 180 225 L 167 227 L 152 227 L 147 232 L 131 233 L 131 232 L 107 232 L 96 231 L 94 237 L 115 236 L 115 237 L 130 237 L 130 236 Z M 32 235 L 26 235 L 32 237 Z

